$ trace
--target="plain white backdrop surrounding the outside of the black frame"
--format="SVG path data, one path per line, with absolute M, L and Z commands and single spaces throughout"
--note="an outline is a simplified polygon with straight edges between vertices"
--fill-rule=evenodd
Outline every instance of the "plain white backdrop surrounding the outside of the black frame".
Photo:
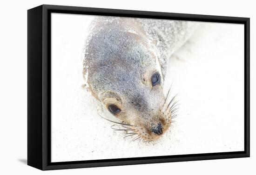
M 131 165 L 90 169 L 69 169 L 41 172 L 25 165 L 27 157 L 27 9 L 41 4 L 90 6 L 159 12 L 180 12 L 194 14 L 241 16 L 251 18 L 251 157 L 225 160 L 194 162 L 173 162 L 148 165 Z M 255 22 L 256 13 L 253 1 L 99 1 L 99 0 L 38 0 L 8 1 L 1 4 L 0 18 L 0 165 L 1 174 L 253 174 L 255 173 L 256 153 L 253 150 L 255 140 Z M 254 97 L 254 98 L 253 98 Z

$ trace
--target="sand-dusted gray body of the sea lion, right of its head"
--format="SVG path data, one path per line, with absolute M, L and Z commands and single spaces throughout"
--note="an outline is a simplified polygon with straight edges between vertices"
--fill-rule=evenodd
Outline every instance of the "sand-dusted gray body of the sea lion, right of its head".
M 138 19 L 150 40 L 159 50 L 159 62 L 163 76 L 166 74 L 168 58 L 184 44 L 194 32 L 196 23 L 181 20 Z

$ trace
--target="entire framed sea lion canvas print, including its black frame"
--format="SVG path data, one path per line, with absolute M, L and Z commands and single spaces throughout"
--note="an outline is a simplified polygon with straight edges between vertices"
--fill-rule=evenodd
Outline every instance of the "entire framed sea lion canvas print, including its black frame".
M 249 156 L 249 18 L 28 10 L 27 163 Z

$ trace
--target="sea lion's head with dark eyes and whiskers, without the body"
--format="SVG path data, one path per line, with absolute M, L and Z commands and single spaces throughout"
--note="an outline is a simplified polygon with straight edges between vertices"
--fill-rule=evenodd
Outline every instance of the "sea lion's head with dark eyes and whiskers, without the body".
M 94 31 L 85 51 L 83 73 L 91 94 L 124 130 L 146 141 L 161 137 L 171 124 L 157 52 L 143 33 L 111 25 Z

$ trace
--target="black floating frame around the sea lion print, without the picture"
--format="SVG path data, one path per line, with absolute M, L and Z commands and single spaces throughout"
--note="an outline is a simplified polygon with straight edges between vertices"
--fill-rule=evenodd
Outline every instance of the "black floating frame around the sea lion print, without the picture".
M 244 24 L 244 151 L 51 162 L 51 13 L 106 15 Z M 249 18 L 41 5 L 27 11 L 27 164 L 41 170 L 73 169 L 249 157 Z M 228 69 L 228 68 L 227 68 Z

